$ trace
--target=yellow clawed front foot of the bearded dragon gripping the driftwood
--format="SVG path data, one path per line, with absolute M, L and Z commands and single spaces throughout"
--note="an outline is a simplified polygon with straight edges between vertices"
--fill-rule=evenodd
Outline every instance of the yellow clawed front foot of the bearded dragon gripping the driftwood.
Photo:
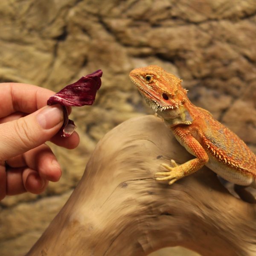
M 157 172 L 154 176 L 166 176 L 163 178 L 156 178 L 156 180 L 170 180 L 169 185 L 172 183 L 175 183 L 176 180 L 179 180 L 180 178 L 183 177 L 183 171 L 180 168 L 180 166 L 177 165 L 175 160 L 171 160 L 171 164 L 173 167 L 168 166 L 167 164 L 161 164 L 166 170 L 169 172 Z

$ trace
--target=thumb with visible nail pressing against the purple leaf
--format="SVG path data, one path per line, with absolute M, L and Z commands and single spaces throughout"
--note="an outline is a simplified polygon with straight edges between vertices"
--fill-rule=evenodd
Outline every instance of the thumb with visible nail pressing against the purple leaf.
M 52 105 L 0 124 L 0 160 L 7 160 L 45 143 L 59 131 L 63 121 L 62 107 Z

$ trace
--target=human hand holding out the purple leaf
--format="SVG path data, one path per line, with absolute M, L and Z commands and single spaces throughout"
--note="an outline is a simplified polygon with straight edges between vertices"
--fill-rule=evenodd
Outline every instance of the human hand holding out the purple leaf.
M 48 181 L 60 179 L 61 167 L 47 140 L 70 149 L 79 144 L 76 132 L 67 138 L 57 134 L 64 117 L 60 105 L 46 106 L 53 94 L 30 84 L 0 84 L 0 200 L 39 194 Z

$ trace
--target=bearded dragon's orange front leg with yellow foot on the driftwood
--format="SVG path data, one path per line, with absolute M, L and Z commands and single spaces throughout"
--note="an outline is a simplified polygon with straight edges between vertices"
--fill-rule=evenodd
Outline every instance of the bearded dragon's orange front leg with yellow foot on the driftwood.
M 195 155 L 196 158 L 181 165 L 177 165 L 174 160 L 171 160 L 173 167 L 162 164 L 162 166 L 165 167 L 169 172 L 157 172 L 155 176 L 166 177 L 157 177 L 156 180 L 170 180 L 169 184 L 172 184 L 176 180 L 196 172 L 208 162 L 209 158 L 206 151 L 194 137 L 187 136 L 183 140 L 183 145 L 186 150 Z

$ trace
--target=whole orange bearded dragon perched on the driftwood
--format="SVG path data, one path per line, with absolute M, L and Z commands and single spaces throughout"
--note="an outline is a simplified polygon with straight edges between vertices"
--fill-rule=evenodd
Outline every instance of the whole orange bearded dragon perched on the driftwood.
M 146 103 L 162 118 L 178 142 L 195 156 L 186 163 L 162 164 L 166 172 L 157 172 L 156 180 L 174 183 L 206 165 L 232 183 L 256 188 L 256 156 L 247 145 L 211 113 L 193 105 L 182 80 L 156 65 L 131 71 Z

